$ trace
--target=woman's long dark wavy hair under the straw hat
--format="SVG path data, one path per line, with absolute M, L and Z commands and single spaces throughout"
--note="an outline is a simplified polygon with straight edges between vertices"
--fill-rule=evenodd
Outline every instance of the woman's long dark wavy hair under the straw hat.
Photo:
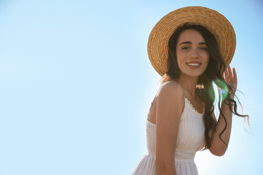
M 211 140 L 214 137 L 215 126 L 216 126 L 216 123 L 212 119 L 212 116 L 211 116 L 211 114 L 215 108 L 213 105 L 213 103 L 215 101 L 215 91 L 213 89 L 213 82 L 216 84 L 216 86 L 218 88 L 218 97 L 219 97 L 218 108 L 219 108 L 220 112 L 221 112 L 220 102 L 222 99 L 222 100 L 224 100 L 226 105 L 229 105 L 230 110 L 235 115 L 243 117 L 244 119 L 245 119 L 245 117 L 247 117 L 247 121 L 249 119 L 249 116 L 239 114 L 237 112 L 236 101 L 230 99 L 229 93 L 225 93 L 225 91 L 233 92 L 233 88 L 225 82 L 225 80 L 222 76 L 227 65 L 225 64 L 225 61 L 224 61 L 222 55 L 220 54 L 220 51 L 219 51 L 219 48 L 218 48 L 218 45 L 217 45 L 217 42 L 216 42 L 214 35 L 212 35 L 207 30 L 207 28 L 205 28 L 201 25 L 193 25 L 193 24 L 185 23 L 183 26 L 177 28 L 176 31 L 174 31 L 174 33 L 171 35 L 171 37 L 169 38 L 169 44 L 168 44 L 168 47 L 169 47 L 168 48 L 169 49 L 168 63 L 167 63 L 168 70 L 162 76 L 162 78 L 159 81 L 159 82 L 161 82 L 161 85 L 165 82 L 170 81 L 170 80 L 173 80 L 173 79 L 176 80 L 177 78 L 179 78 L 181 70 L 179 69 L 179 66 L 177 63 L 175 48 L 176 48 L 176 44 L 178 42 L 179 35 L 186 29 L 194 29 L 194 30 L 198 31 L 206 40 L 208 51 L 209 51 L 209 61 L 208 61 L 207 69 L 199 76 L 198 82 L 196 85 L 196 92 L 197 92 L 198 97 L 203 102 L 205 102 L 204 122 L 205 122 L 205 126 L 206 126 L 206 129 L 205 129 L 206 146 L 202 150 L 202 151 L 204 151 L 204 150 L 211 147 Z M 237 96 L 236 96 L 236 98 L 237 98 Z M 238 100 L 238 102 L 239 102 L 239 100 Z M 240 102 L 239 102 L 239 104 L 240 104 Z M 213 106 L 213 110 L 210 112 L 212 106 Z M 234 106 L 234 110 L 232 109 L 232 106 Z M 221 114 L 225 120 L 225 128 L 219 135 L 220 140 L 222 140 L 221 135 L 225 131 L 226 125 L 227 125 L 224 114 L 222 112 L 221 112 Z M 214 124 L 215 124 L 215 126 L 213 127 Z M 248 125 L 249 125 L 249 122 L 248 122 Z M 212 129 L 212 138 L 210 138 L 208 135 L 208 132 L 211 129 Z M 224 140 L 222 140 L 222 141 L 225 143 Z M 227 147 L 226 143 L 225 143 L 225 145 Z

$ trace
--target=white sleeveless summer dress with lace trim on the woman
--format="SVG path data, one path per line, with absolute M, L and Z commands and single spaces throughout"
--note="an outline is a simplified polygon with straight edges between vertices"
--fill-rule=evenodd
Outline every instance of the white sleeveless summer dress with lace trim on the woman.
M 197 151 L 205 147 L 204 114 L 205 104 L 201 114 L 185 97 L 185 107 L 179 123 L 174 158 L 176 175 L 198 175 L 194 157 Z M 151 123 L 148 119 L 146 121 L 146 136 L 148 153 L 139 160 L 131 175 L 156 175 L 155 123 Z

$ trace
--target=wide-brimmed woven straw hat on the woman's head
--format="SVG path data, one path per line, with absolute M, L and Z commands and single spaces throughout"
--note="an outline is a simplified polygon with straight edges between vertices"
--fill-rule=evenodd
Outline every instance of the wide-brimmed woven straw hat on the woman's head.
M 236 35 L 230 22 L 222 14 L 206 7 L 183 7 L 161 18 L 150 32 L 148 55 L 151 65 L 161 76 L 167 71 L 169 38 L 177 27 L 186 22 L 206 27 L 215 36 L 226 65 L 230 64 L 236 48 Z

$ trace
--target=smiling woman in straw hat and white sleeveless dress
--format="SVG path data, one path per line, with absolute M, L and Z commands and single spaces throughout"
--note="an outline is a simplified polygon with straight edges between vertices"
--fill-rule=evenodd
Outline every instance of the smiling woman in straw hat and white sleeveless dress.
M 195 153 L 223 156 L 230 139 L 237 74 L 229 66 L 236 39 L 220 13 L 184 7 L 158 21 L 150 33 L 148 55 L 162 76 L 148 113 L 147 146 L 132 175 L 198 175 Z M 218 88 L 218 121 L 214 114 Z M 220 103 L 218 103 L 220 104 Z M 233 109 L 234 107 L 234 109 Z

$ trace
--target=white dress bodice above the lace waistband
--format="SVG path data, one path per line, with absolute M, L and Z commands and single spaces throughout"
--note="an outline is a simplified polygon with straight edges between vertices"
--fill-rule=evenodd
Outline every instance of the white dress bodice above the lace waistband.
M 150 112 L 150 111 L 149 111 Z M 185 98 L 185 107 L 179 123 L 176 142 L 176 155 L 193 159 L 195 153 L 205 146 L 205 104 L 203 113 L 199 113 Z M 148 113 L 149 115 L 149 113 Z M 149 154 L 155 154 L 155 123 L 146 121 L 147 148 Z M 183 153 L 181 153 L 183 152 Z M 189 154 L 185 154 L 189 153 Z M 179 155 L 178 155 L 179 154 Z M 183 154 L 180 156 L 180 154 Z

